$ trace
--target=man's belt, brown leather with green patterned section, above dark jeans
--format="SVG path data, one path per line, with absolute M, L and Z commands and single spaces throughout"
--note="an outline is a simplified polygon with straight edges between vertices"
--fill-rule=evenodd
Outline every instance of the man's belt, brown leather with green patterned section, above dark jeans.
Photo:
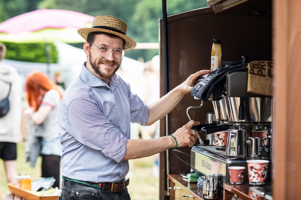
M 105 190 L 109 190 L 112 193 L 117 193 L 117 192 L 121 192 L 123 191 L 128 185 L 129 185 L 129 178 L 126 179 L 125 181 L 119 181 L 119 182 L 114 182 L 114 183 L 94 183 L 91 181 L 79 181 L 79 180 L 75 180 L 75 179 L 71 179 L 71 178 L 67 178 L 63 176 L 64 181 L 70 181 L 70 182 L 74 182 L 74 183 L 79 183 L 79 184 L 83 184 L 89 187 L 95 187 L 98 189 L 101 189 L 104 185 L 104 189 Z

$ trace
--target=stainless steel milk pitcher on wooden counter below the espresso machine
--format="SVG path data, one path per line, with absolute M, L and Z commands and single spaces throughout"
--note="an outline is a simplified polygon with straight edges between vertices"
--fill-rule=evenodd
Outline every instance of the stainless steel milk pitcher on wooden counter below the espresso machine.
M 203 181 L 203 198 L 204 199 L 220 199 L 221 189 L 219 187 L 219 175 L 205 175 Z

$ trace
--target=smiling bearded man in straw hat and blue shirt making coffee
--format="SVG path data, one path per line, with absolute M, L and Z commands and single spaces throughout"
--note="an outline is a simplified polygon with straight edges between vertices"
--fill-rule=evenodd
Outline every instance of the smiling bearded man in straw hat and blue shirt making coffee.
M 87 62 L 67 88 L 57 116 L 62 154 L 60 199 L 130 199 L 129 159 L 151 156 L 169 148 L 190 147 L 198 133 L 190 121 L 171 136 L 130 138 L 130 123 L 151 125 L 168 114 L 190 92 L 199 71 L 149 106 L 131 92 L 115 72 L 126 51 L 136 43 L 126 36 L 127 24 L 112 16 L 97 16 L 92 28 L 78 33 L 86 40 Z

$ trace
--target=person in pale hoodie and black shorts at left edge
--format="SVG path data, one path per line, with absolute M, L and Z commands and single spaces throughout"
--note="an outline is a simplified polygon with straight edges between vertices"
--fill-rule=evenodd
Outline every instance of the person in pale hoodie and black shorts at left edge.
M 17 176 L 17 142 L 20 140 L 22 115 L 22 82 L 17 70 L 2 63 L 6 47 L 0 43 L 0 101 L 8 96 L 9 111 L 0 117 L 0 158 L 4 161 L 8 183 Z M 11 91 L 9 92 L 11 84 Z

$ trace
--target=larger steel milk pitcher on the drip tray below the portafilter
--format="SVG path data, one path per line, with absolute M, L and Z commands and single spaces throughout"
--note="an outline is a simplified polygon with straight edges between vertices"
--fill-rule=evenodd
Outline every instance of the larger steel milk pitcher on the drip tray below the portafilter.
M 247 155 L 245 139 L 246 130 L 228 130 L 228 140 L 226 145 L 226 155 L 233 157 L 244 157 Z

